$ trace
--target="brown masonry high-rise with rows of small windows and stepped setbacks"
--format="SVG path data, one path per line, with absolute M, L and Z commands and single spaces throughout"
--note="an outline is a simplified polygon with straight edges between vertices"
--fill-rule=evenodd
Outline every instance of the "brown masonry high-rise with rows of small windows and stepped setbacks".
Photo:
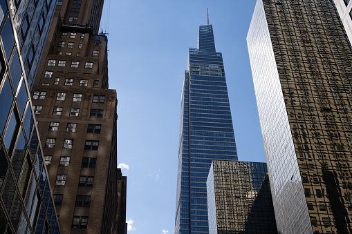
M 109 89 L 102 0 L 57 1 L 32 89 L 62 233 L 114 233 L 116 91 Z

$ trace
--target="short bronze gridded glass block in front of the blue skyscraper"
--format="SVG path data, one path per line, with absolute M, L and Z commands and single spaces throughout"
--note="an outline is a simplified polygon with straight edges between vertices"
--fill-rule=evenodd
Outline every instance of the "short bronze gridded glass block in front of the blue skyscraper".
M 277 233 L 265 163 L 214 160 L 207 199 L 212 234 Z

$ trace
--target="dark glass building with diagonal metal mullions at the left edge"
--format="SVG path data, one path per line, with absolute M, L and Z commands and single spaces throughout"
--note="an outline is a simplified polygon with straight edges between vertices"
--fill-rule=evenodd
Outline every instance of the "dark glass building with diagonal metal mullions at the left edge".
M 56 1 L 0 1 L 0 233 L 60 233 L 30 101 Z

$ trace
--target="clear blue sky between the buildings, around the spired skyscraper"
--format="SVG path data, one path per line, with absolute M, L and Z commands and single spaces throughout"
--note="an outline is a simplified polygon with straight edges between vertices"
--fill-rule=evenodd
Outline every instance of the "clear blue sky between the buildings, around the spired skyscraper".
M 207 8 L 223 53 L 239 160 L 265 162 L 246 44 L 255 2 L 105 1 L 129 234 L 174 233 L 181 88 L 188 48 L 196 48 Z

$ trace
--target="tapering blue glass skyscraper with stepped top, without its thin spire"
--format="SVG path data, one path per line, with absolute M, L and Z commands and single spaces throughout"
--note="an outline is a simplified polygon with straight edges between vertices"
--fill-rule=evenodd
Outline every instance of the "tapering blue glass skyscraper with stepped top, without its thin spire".
M 199 27 L 198 48 L 189 48 L 182 93 L 175 233 L 208 233 L 212 160 L 237 160 L 223 57 L 209 23 Z

